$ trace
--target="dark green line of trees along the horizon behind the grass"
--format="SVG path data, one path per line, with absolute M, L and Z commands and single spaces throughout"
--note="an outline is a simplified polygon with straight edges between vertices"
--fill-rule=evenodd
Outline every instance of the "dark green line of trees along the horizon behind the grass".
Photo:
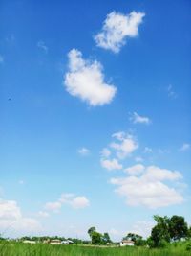
M 154 247 L 165 247 L 168 244 L 172 244 L 179 241 L 191 240 L 191 227 L 188 226 L 187 222 L 182 216 L 174 215 L 171 218 L 159 215 L 154 216 L 156 225 L 151 230 L 151 235 L 147 239 L 143 239 L 142 236 L 135 233 L 127 233 L 124 240 L 133 241 L 136 246 L 149 246 Z M 17 241 L 35 241 L 37 243 L 43 243 L 44 241 L 60 240 L 66 241 L 70 240 L 74 244 L 118 244 L 112 242 L 109 233 L 100 233 L 96 230 L 96 227 L 91 227 L 88 229 L 88 235 L 90 236 L 90 241 L 81 240 L 77 238 L 65 238 L 59 236 L 41 236 L 41 237 L 29 237 L 25 236 Z M 0 236 L 0 240 L 3 239 Z M 190 244 L 191 250 L 191 244 Z

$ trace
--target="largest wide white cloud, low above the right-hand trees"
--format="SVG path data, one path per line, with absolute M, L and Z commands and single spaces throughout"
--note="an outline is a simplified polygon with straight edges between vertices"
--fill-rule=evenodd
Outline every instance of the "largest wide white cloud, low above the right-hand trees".
M 128 205 L 158 208 L 180 204 L 183 201 L 180 192 L 172 183 L 182 178 L 179 172 L 160 169 L 157 166 L 134 166 L 129 168 L 127 173 L 129 175 L 126 177 L 112 178 L 111 183 L 117 186 L 117 194 L 125 197 Z

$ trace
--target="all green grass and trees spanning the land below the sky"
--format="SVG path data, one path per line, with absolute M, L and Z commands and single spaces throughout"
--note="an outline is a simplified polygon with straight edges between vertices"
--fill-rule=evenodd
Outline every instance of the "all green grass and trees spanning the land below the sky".
M 154 216 L 156 225 L 151 236 L 128 233 L 123 240 L 135 246 L 119 246 L 108 233 L 101 234 L 96 227 L 88 230 L 91 241 L 64 237 L 22 237 L 19 240 L 0 236 L 0 256 L 184 256 L 191 255 L 191 228 L 181 216 Z M 56 242 L 56 244 L 53 244 Z M 61 244 L 68 242 L 68 244 Z M 73 244 L 69 244 L 73 243 Z M 28 243 L 28 244 L 26 244 Z M 46 243 L 46 244 L 45 244 Z

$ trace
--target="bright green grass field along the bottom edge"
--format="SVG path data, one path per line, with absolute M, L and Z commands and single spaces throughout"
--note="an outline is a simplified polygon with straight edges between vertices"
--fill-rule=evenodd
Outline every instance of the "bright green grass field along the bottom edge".
M 1 243 L 0 256 L 187 256 L 186 244 L 163 249 L 143 247 L 93 247 L 83 245 Z

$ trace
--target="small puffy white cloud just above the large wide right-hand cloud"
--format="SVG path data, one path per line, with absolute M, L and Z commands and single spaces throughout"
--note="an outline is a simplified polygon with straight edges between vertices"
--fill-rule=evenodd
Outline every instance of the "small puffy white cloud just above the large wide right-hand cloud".
M 118 158 L 125 158 L 138 149 L 138 142 L 128 133 L 117 132 L 112 137 L 116 138 L 117 142 L 112 142 L 110 147 L 117 151 Z

